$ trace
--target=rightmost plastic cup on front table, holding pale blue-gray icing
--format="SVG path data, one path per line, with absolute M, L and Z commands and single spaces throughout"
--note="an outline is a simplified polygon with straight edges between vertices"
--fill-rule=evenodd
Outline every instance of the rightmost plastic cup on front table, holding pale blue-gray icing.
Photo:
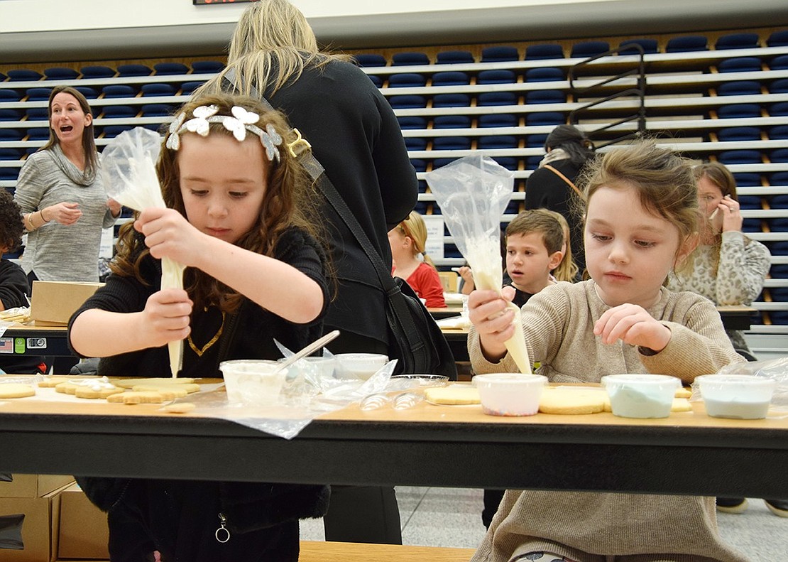
M 695 381 L 712 418 L 765 418 L 777 388 L 774 379 L 749 374 L 704 374 Z

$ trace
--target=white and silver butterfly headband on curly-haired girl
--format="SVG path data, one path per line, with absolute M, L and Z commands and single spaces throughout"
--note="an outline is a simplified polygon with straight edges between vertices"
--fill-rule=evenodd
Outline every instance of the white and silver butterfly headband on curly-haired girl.
M 279 162 L 279 146 L 282 143 L 282 137 L 277 132 L 276 128 L 270 123 L 266 125 L 266 130 L 263 131 L 255 123 L 260 121 L 260 116 L 251 111 L 244 110 L 243 107 L 232 106 L 232 115 L 217 115 L 219 108 L 217 106 L 199 106 L 196 107 L 193 114 L 194 117 L 186 121 L 186 113 L 182 112 L 175 121 L 169 125 L 169 137 L 167 139 L 166 147 L 170 150 L 177 151 L 180 148 L 180 133 L 182 132 L 196 132 L 199 136 L 208 136 L 210 132 L 210 123 L 221 123 L 224 127 L 232 132 L 232 136 L 241 141 L 246 139 L 246 132 L 250 131 L 260 137 L 260 143 L 266 149 L 266 156 L 269 162 L 273 162 L 276 158 Z M 184 121 L 186 121 L 184 123 Z

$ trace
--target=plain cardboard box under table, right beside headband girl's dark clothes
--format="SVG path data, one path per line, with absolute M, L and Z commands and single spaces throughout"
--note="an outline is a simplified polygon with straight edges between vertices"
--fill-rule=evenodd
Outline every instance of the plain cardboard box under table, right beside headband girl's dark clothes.
M 58 559 L 108 560 L 110 530 L 106 513 L 87 499 L 80 486 L 73 484 L 60 494 L 60 532 Z

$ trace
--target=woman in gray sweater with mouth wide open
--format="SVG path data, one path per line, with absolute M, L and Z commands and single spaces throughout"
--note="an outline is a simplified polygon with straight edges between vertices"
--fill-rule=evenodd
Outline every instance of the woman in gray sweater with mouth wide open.
M 107 199 L 93 114 L 73 87 L 52 88 L 50 139 L 19 172 L 14 200 L 28 244 L 22 268 L 35 281 L 99 281 L 102 229 L 115 224 L 121 205 Z

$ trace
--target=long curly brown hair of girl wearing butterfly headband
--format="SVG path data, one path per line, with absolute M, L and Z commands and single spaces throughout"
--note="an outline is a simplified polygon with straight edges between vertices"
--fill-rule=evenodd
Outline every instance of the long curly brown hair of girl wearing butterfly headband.
M 287 143 L 296 140 L 288 126 L 284 115 L 278 111 L 266 110 L 258 99 L 239 95 L 203 95 L 192 98 L 176 112 L 176 116 L 185 114 L 186 120 L 194 115 L 199 106 L 217 106 L 217 115 L 232 116 L 232 106 L 241 106 L 260 116 L 256 125 L 265 130 L 269 125 L 276 129 L 283 143 L 279 147 L 280 159 L 266 162 L 266 192 L 262 199 L 262 208 L 257 224 L 248 233 L 240 237 L 236 246 L 258 254 L 273 257 L 273 253 L 286 229 L 296 227 L 310 234 L 325 251 L 325 231 L 319 221 L 317 201 L 311 178 L 288 151 Z M 162 196 L 167 207 L 177 210 L 186 216 L 183 195 L 180 192 L 180 169 L 178 152 L 165 146 L 166 140 L 173 133 L 168 132 L 162 143 L 162 151 L 156 163 L 159 183 L 162 185 Z M 192 134 L 190 132 L 182 132 Z M 232 132 L 221 123 L 210 123 L 211 135 L 232 136 Z M 135 215 L 136 216 L 136 215 Z M 144 282 L 139 273 L 140 261 L 148 255 L 144 237 L 136 232 L 133 223 L 129 222 L 121 228 L 117 240 L 117 255 L 110 263 L 115 274 L 136 276 Z M 326 271 L 329 263 L 326 259 Z M 188 268 L 184 274 L 184 288 L 195 302 L 195 307 L 215 305 L 222 311 L 236 311 L 242 296 L 234 289 L 195 268 Z

